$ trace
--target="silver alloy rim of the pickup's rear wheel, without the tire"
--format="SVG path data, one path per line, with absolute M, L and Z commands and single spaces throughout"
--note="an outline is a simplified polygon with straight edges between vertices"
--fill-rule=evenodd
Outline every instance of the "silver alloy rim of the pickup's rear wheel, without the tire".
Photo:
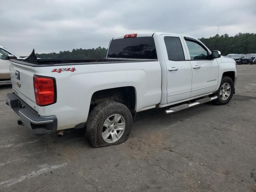
M 102 139 L 107 143 L 114 143 L 124 134 L 126 122 L 122 115 L 109 116 L 102 126 Z

